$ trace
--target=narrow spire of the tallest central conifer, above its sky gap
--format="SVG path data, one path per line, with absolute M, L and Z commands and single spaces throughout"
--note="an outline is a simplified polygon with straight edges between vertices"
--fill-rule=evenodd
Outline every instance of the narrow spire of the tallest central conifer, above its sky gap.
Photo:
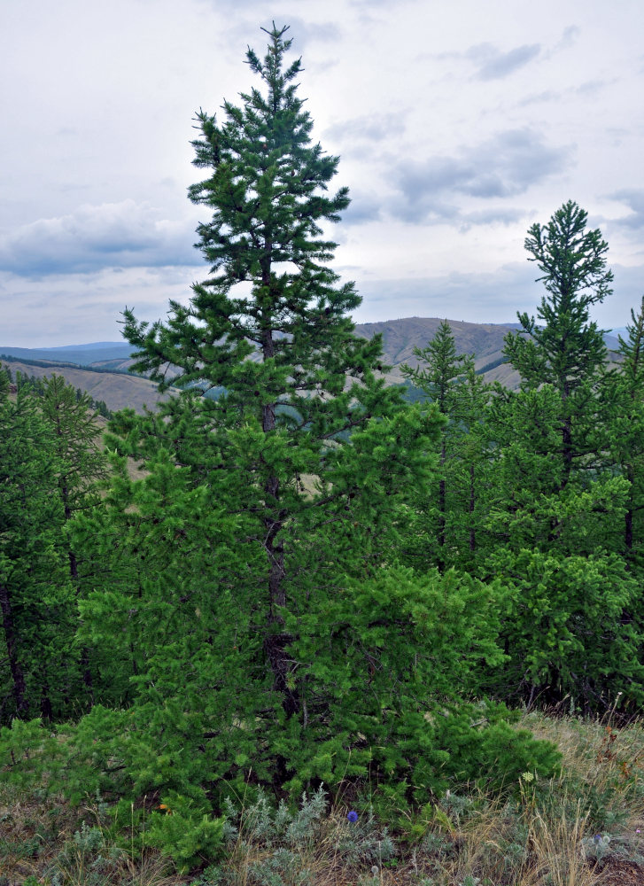
M 265 29 L 263 29 L 265 30 Z M 320 268 L 336 244 L 320 239 L 322 221 L 339 221 L 349 204 L 348 189 L 330 198 L 324 192 L 336 175 L 338 157 L 311 145 L 313 121 L 302 110 L 294 82 L 297 58 L 286 67 L 291 40 L 288 27 L 275 25 L 263 59 L 252 49 L 246 62 L 266 84 L 242 93 L 238 107 L 225 101 L 225 120 L 203 111 L 197 115 L 202 137 L 192 144 L 197 167 L 213 170 L 205 182 L 190 187 L 194 203 L 211 206 L 212 221 L 198 228 L 198 248 L 212 264 L 217 281 L 232 285 L 261 278 L 268 282 L 275 263 L 292 262 L 300 273 Z

